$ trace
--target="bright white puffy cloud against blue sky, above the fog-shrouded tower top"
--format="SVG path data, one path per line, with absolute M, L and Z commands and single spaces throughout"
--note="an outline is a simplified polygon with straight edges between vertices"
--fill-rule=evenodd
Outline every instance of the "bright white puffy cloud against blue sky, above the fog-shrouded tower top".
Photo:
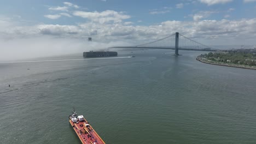
M 122 20 L 129 19 L 131 17 L 123 14 L 123 12 L 117 12 L 114 10 L 105 10 L 102 12 L 74 11 L 73 15 L 100 23 L 121 22 Z

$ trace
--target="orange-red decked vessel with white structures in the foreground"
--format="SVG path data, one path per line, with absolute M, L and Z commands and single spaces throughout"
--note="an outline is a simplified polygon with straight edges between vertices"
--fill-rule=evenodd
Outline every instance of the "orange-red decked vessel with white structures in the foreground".
M 83 115 L 78 116 L 75 110 L 69 116 L 69 123 L 83 144 L 105 144 L 101 137 L 91 127 Z

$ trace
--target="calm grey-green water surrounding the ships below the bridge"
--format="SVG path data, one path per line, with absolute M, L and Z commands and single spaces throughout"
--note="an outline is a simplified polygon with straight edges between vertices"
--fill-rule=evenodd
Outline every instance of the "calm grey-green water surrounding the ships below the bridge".
M 256 143 L 256 71 L 173 52 L 0 63 L 0 143 L 79 143 L 73 107 L 106 143 Z

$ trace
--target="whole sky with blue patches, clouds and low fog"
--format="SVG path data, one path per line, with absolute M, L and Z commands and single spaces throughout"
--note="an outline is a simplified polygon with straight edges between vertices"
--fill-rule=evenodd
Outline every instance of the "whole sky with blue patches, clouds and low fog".
M 0 0 L 0 61 L 139 45 L 175 32 L 205 45 L 256 45 L 256 0 Z

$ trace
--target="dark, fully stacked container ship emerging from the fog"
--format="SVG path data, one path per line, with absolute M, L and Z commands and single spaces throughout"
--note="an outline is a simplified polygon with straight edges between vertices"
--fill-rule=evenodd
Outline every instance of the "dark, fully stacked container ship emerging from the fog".
M 83 53 L 84 57 L 114 57 L 117 55 L 116 51 L 89 51 Z

